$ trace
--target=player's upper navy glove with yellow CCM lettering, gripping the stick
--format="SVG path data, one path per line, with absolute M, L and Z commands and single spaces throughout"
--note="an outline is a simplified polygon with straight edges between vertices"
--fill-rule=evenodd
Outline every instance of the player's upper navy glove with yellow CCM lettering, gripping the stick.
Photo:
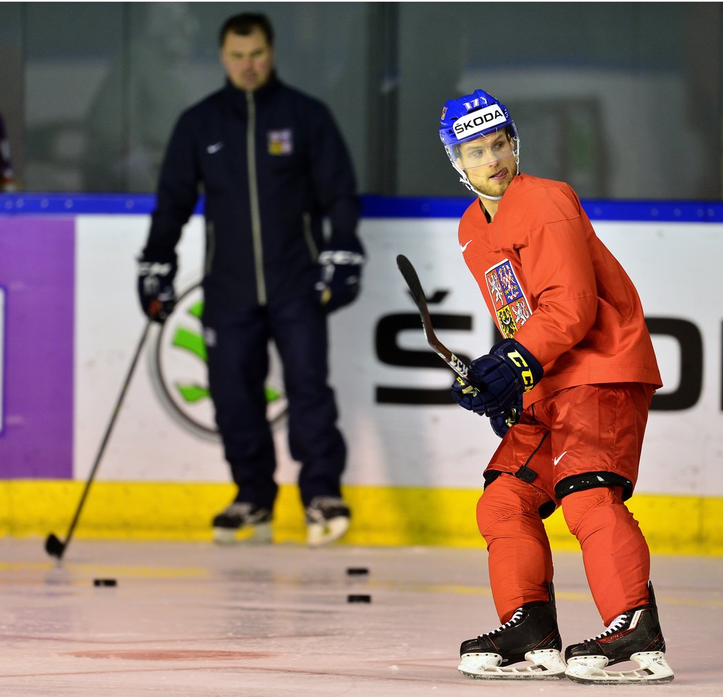
M 452 397 L 471 412 L 500 416 L 516 407 L 543 373 L 542 365 L 520 342 L 502 339 L 487 355 L 472 361 L 467 380 L 455 380 Z

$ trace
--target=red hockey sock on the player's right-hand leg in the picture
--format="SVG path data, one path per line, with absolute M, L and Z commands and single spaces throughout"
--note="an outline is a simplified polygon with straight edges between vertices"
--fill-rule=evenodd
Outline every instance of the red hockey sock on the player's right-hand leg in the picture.
M 562 499 L 562 514 L 583 552 L 585 573 L 605 625 L 649 602 L 650 552 L 620 487 L 594 488 Z

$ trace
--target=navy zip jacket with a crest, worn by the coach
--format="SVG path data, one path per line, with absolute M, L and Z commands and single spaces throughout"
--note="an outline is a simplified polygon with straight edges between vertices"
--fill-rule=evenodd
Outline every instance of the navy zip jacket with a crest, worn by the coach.
M 252 306 L 311 295 L 323 248 L 360 248 L 354 170 L 333 116 L 275 75 L 249 93 L 227 80 L 181 114 L 161 168 L 145 259 L 175 260 L 200 194 L 206 303 Z

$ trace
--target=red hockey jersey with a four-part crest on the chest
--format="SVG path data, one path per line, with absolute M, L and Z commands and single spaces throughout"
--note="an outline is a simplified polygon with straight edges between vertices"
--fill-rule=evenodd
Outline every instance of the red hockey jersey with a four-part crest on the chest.
M 502 335 L 544 367 L 525 406 L 581 384 L 662 386 L 633 282 L 568 184 L 516 176 L 492 222 L 469 206 L 459 243 Z

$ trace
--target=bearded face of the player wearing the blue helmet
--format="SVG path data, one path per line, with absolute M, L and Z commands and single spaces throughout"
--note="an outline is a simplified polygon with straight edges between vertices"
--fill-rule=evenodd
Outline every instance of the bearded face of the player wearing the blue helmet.
M 487 196 L 502 196 L 517 174 L 512 138 L 507 131 L 462 143 L 457 164 L 472 186 Z

